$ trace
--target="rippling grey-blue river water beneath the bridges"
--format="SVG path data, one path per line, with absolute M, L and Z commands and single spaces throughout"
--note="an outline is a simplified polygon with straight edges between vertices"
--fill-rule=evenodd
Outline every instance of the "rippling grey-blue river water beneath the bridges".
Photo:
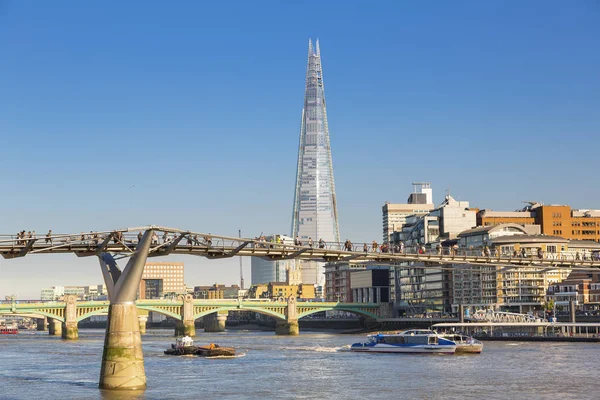
M 104 331 L 78 341 L 47 332 L 0 337 L 0 399 L 597 399 L 600 345 L 486 342 L 481 355 L 364 354 L 364 336 L 199 332 L 229 359 L 165 356 L 172 331 L 144 335 L 148 388 L 98 389 Z

